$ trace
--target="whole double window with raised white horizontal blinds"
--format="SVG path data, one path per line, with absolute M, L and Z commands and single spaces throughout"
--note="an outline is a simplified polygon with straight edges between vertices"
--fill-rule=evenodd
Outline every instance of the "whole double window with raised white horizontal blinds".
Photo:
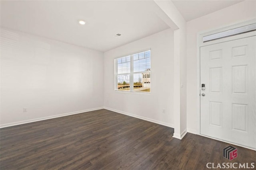
M 115 90 L 150 92 L 150 50 L 115 59 Z

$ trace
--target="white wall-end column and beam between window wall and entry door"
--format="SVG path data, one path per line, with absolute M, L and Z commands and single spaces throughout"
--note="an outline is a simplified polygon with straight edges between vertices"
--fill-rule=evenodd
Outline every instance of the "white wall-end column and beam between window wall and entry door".
M 186 21 L 171 0 L 154 2 L 164 12 L 158 16 L 174 30 L 174 134 L 182 139 L 187 133 L 186 121 Z M 166 20 L 168 16 L 168 22 Z

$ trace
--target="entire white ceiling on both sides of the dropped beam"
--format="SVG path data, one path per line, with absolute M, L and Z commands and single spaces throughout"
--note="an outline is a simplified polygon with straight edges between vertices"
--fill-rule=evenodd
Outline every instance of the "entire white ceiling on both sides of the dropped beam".
M 238 0 L 179 0 L 186 21 L 236 4 Z M 65 43 L 108 51 L 168 29 L 148 1 L 0 1 L 0 26 Z M 86 25 L 79 25 L 85 20 Z M 120 37 L 114 37 L 117 33 Z

